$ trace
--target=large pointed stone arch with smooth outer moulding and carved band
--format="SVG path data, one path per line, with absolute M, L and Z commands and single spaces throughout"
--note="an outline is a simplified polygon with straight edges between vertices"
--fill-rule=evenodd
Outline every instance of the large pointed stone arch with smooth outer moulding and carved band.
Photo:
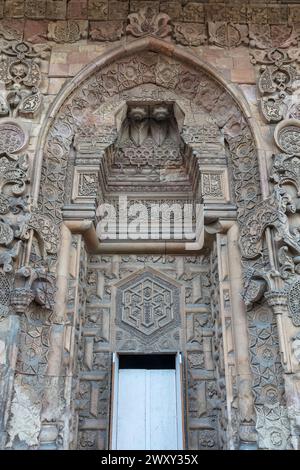
M 212 66 L 178 46 L 153 37 L 114 47 L 87 65 L 55 99 L 37 146 L 33 198 L 39 213 L 56 225 L 61 220 L 64 191 L 70 184 L 68 161 L 76 130 L 92 119 L 93 110 L 101 103 L 147 83 L 199 104 L 217 123 L 229 147 L 238 218 L 243 223 L 259 202 L 259 181 L 265 179 L 259 133 L 250 118 L 248 105 L 242 93 Z M 109 143 L 108 136 L 107 139 Z

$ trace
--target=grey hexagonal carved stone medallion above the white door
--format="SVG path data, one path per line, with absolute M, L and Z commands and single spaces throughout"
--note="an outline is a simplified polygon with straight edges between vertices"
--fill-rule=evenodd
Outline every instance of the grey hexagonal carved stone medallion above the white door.
M 131 277 L 118 287 L 117 316 L 149 336 L 179 318 L 179 287 L 152 271 Z

